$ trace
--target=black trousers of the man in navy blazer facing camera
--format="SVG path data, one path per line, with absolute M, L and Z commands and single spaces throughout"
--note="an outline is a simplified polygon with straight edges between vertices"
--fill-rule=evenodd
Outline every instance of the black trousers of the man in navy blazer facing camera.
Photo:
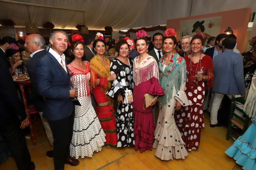
M 63 169 L 65 158 L 70 157 L 69 146 L 73 135 L 74 116 L 75 109 L 67 118 L 48 120 L 53 133 L 53 162 L 55 170 Z

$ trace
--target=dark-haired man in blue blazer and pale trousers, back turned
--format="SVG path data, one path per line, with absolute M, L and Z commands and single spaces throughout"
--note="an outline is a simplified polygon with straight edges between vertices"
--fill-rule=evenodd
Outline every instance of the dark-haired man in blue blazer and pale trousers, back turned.
M 225 94 L 229 98 L 232 94 L 236 94 L 235 97 L 241 97 L 245 94 L 242 56 L 233 52 L 235 45 L 236 39 L 234 38 L 230 37 L 223 40 L 223 52 L 213 59 L 214 83 L 212 91 L 214 98 L 210 127 L 220 126 L 217 121 L 218 109 Z M 242 108 L 241 104 L 237 106 Z

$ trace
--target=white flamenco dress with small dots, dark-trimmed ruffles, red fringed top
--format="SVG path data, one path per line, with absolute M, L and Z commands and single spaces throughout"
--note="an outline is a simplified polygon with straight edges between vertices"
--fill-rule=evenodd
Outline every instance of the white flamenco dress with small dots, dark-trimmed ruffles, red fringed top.
M 101 151 L 104 146 L 105 133 L 102 130 L 99 119 L 92 106 L 90 98 L 90 71 L 87 64 L 87 71 L 83 72 L 68 64 L 73 74 L 71 82 L 78 84 L 78 99 L 81 106 L 75 105 L 75 119 L 73 125 L 73 136 L 70 143 L 70 156 L 92 157 L 94 151 Z

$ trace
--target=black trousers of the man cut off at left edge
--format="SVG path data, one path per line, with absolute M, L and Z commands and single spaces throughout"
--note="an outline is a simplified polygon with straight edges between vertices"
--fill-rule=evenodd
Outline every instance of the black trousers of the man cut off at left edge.
M 30 170 L 32 163 L 24 131 L 20 129 L 20 123 L 10 120 L 6 126 L 0 126 L 0 134 L 10 147 L 12 156 L 19 170 Z

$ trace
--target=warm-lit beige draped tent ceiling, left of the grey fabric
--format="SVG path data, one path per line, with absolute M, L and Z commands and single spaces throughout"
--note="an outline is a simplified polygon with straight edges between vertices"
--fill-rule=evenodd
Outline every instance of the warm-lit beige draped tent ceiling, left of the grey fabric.
M 22 0 L 20 2 L 86 11 L 85 25 L 89 29 L 104 29 L 105 26 L 111 26 L 114 30 L 120 30 L 137 19 L 148 0 Z M 29 23 L 26 5 L 3 1 L 0 1 L 0 4 L 0 19 L 11 19 L 17 26 Z M 31 23 L 38 27 L 46 21 L 63 29 L 84 24 L 83 12 L 30 5 L 28 9 Z

